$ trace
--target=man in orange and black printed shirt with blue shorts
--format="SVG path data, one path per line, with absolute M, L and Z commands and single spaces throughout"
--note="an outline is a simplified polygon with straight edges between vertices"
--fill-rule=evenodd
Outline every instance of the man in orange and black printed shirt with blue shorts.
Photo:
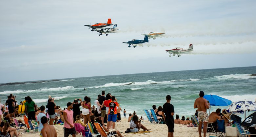
M 115 102 L 114 102 L 115 101 Z M 109 127 L 110 121 L 112 121 L 112 129 L 115 129 L 115 122 L 116 122 L 116 107 L 119 107 L 119 104 L 115 98 L 115 96 L 111 97 L 111 101 L 109 102 L 109 109 L 108 109 L 108 123 L 107 127 Z

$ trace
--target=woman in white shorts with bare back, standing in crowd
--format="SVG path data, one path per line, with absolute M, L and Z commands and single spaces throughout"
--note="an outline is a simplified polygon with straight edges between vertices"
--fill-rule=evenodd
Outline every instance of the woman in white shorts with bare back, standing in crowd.
M 90 120 L 90 114 L 91 114 L 91 99 L 88 98 L 87 96 L 85 96 L 85 101 L 83 103 L 83 110 L 82 110 L 82 114 L 83 114 L 83 117 L 84 117 L 84 123 L 89 123 L 91 122 Z

